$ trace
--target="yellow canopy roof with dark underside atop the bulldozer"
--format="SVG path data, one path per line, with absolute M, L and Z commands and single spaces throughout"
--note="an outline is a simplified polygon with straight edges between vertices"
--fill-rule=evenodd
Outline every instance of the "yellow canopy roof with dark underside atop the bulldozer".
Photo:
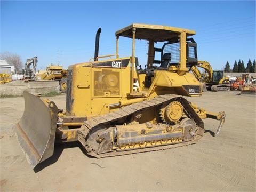
M 116 31 L 116 36 L 132 38 L 133 28 L 136 29 L 136 39 L 145 39 L 148 41 L 151 40 L 154 42 L 173 41 L 178 39 L 179 34 L 182 32 L 185 32 L 187 37 L 196 34 L 194 30 L 182 29 L 178 27 L 133 23 L 132 25 Z

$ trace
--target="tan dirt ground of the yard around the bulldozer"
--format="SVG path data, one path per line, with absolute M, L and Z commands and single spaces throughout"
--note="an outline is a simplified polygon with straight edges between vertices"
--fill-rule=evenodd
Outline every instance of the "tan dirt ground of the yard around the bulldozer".
M 0 99 L 1 191 L 256 191 L 254 95 L 204 92 L 188 98 L 206 110 L 226 112 L 206 119 L 195 145 L 110 158 L 87 157 L 78 143 L 55 146 L 36 172 L 22 153 L 12 126 L 22 116 L 23 98 Z M 65 94 L 51 98 L 65 108 Z

